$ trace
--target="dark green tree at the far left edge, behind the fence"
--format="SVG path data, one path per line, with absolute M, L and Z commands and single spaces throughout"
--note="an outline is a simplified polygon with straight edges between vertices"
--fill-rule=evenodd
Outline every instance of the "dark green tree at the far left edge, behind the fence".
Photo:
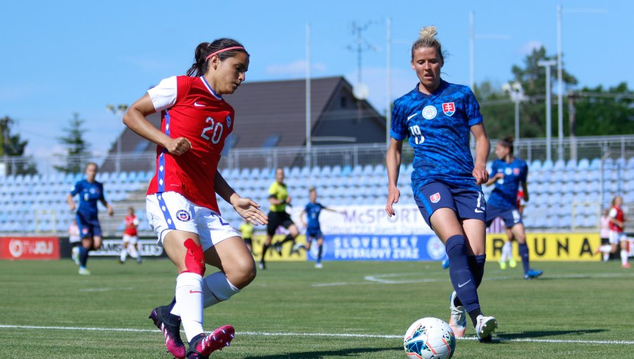
M 14 123 L 15 121 L 8 116 L 0 118 L 0 156 L 6 156 L 6 173 L 33 175 L 37 173 L 37 166 L 32 156 L 24 156 L 29 141 L 21 139 L 20 134 L 11 134 L 11 126 Z

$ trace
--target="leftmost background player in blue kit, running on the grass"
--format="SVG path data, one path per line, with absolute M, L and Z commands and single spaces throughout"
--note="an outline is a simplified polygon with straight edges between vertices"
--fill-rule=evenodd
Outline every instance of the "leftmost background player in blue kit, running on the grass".
M 77 181 L 75 187 L 66 197 L 70 211 L 76 208 L 73 197 L 79 195 L 79 208 L 77 208 L 77 226 L 80 229 L 82 237 L 82 245 L 80 246 L 80 275 L 90 275 L 86 269 L 88 261 L 88 251 L 96 251 L 101 248 L 101 225 L 99 225 L 99 217 L 97 217 L 97 202 L 101 202 L 106 206 L 108 215 L 113 215 L 112 207 L 104 197 L 104 184 L 94 180 L 97 176 L 97 163 L 88 163 L 86 165 L 86 178 Z

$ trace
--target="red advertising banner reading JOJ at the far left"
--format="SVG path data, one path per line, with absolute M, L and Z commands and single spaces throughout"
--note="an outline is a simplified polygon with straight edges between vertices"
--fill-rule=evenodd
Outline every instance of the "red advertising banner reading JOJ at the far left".
M 0 259 L 59 259 L 59 238 L 0 237 Z

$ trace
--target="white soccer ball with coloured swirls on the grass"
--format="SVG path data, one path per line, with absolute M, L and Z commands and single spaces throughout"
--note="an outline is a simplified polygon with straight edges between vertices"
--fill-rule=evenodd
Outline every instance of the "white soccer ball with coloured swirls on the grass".
M 425 317 L 407 329 L 403 346 L 408 358 L 449 359 L 456 350 L 456 336 L 446 322 Z

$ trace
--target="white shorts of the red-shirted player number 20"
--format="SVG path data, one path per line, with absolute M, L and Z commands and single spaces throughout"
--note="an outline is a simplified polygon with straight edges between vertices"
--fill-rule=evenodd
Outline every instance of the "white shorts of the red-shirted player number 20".
M 150 194 L 145 203 L 149 224 L 161 247 L 165 236 L 173 230 L 198 234 L 203 251 L 230 237 L 240 237 L 240 232 L 219 213 L 197 206 L 176 192 Z

